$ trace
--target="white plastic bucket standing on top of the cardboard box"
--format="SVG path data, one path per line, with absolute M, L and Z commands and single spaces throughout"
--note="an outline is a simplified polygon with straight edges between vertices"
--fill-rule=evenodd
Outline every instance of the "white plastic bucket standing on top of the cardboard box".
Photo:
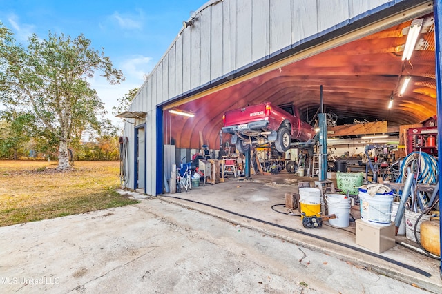
M 390 226 L 392 222 L 393 192 L 374 196 L 359 188 L 361 219 L 376 226 Z

